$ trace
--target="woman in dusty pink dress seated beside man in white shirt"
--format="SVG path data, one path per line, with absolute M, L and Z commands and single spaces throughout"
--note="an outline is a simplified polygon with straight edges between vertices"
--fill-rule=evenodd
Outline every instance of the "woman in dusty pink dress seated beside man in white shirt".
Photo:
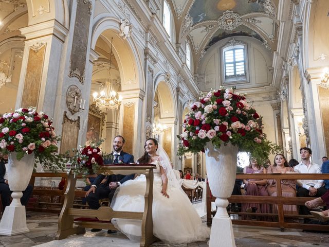
M 267 173 L 292 173 L 294 168 L 289 167 L 283 154 L 274 157 L 272 167 L 267 168 Z M 267 191 L 271 197 L 277 197 L 277 183 L 274 179 L 267 180 Z M 296 180 L 281 180 L 281 191 L 283 197 L 296 197 Z M 298 214 L 296 205 L 283 205 L 284 214 Z M 278 213 L 278 205 L 272 205 L 272 213 Z

